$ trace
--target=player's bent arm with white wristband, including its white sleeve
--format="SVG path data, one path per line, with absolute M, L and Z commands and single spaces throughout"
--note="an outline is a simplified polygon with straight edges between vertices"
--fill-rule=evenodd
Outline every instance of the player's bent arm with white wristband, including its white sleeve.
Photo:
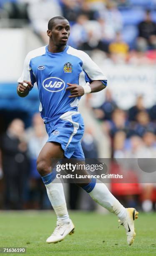
M 86 93 L 100 92 L 105 89 L 107 86 L 107 78 L 98 67 L 98 65 L 83 51 L 79 51 L 81 59 L 83 60 L 83 70 L 86 72 L 87 77 L 90 82 L 87 82 L 85 85 L 81 84 L 68 84 L 66 90 L 70 90 L 72 97 L 83 96 Z

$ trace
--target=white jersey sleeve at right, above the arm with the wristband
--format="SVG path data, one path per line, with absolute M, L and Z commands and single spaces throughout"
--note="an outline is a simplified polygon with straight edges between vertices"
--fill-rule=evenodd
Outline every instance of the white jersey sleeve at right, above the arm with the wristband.
M 91 80 L 107 80 L 102 70 L 84 51 L 81 51 L 81 59 L 83 61 L 82 68 Z

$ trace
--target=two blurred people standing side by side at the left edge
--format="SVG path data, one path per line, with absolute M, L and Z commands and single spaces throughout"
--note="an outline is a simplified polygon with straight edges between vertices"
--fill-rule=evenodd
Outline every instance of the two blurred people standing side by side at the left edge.
M 47 134 L 39 113 L 33 117 L 33 126 L 26 130 L 22 120 L 13 119 L 0 137 L 5 209 L 29 208 L 31 202 L 32 208 L 35 204 L 43 208 L 44 187 L 36 169 L 36 159 L 46 140 Z

